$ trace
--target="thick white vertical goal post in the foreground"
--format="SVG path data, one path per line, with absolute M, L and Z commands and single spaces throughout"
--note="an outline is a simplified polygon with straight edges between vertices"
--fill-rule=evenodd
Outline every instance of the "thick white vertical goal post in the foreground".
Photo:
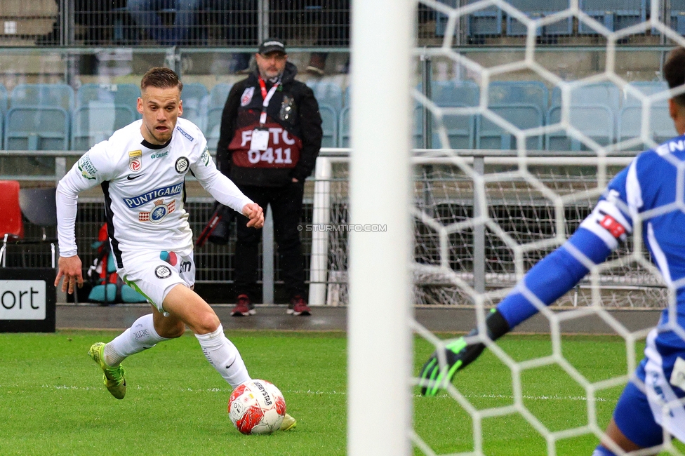
M 411 454 L 409 150 L 415 1 L 352 2 L 347 454 Z

